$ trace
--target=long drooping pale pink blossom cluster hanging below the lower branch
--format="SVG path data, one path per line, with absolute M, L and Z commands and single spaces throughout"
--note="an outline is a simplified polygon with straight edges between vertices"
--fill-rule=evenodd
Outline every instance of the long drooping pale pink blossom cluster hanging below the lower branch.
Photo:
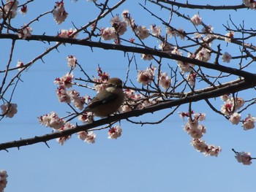
M 206 127 L 199 124 L 200 121 L 205 120 L 206 115 L 204 113 L 195 112 L 180 112 L 181 118 L 187 117 L 187 123 L 184 126 L 184 131 L 192 137 L 190 144 L 200 153 L 208 156 L 218 156 L 221 151 L 220 147 L 214 145 L 207 145 L 205 141 L 201 139 L 203 134 L 206 133 Z

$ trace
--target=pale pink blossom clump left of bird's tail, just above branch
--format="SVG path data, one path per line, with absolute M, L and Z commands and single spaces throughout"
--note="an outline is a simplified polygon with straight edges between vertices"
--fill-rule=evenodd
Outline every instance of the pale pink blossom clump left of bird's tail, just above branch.
M 56 112 L 50 112 L 49 114 L 42 115 L 38 117 L 37 120 L 41 125 L 53 128 L 55 130 L 58 130 L 64 126 L 64 120 L 59 118 Z

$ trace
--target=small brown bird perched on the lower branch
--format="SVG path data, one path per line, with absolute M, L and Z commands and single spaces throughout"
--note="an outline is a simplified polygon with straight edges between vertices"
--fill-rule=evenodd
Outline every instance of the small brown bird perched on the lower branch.
M 122 90 L 123 82 L 113 77 L 108 80 L 107 86 L 94 96 L 83 112 L 92 112 L 100 118 L 108 117 L 116 112 L 124 102 L 124 91 Z

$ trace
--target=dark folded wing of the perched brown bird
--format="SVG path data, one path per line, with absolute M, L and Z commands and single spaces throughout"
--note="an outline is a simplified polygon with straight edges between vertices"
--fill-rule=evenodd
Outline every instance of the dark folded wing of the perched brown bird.
M 105 104 L 105 103 L 114 101 L 117 97 L 117 95 L 114 93 L 110 93 L 106 90 L 102 90 L 102 91 L 104 92 L 101 93 L 100 95 L 97 94 L 96 96 L 94 96 L 93 99 L 91 99 L 91 101 L 89 102 L 86 108 L 93 109 L 94 107 L 99 106 L 100 104 Z

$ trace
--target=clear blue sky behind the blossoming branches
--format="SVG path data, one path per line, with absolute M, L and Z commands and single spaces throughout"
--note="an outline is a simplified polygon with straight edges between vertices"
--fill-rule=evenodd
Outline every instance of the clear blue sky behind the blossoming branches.
M 31 7 L 29 6 L 27 15 L 24 17 L 17 15 L 17 18 L 13 20 L 14 25 L 22 26 L 23 23 L 28 23 L 38 12 L 52 9 L 54 2 L 35 1 Z M 84 0 L 76 3 L 67 0 L 64 2 L 69 12 L 66 22 L 57 26 L 52 15 L 48 15 L 31 26 L 32 34 L 46 32 L 48 35 L 56 35 L 62 28 L 72 28 L 71 21 L 80 27 L 95 18 L 96 11 L 90 2 Z M 143 11 L 138 2 L 143 4 L 144 1 L 129 1 L 115 10 L 113 14 L 121 14 L 124 9 L 129 9 L 137 23 L 148 28 L 153 23 L 158 26 L 159 22 L 148 19 L 150 15 Z M 212 4 L 211 1 L 195 2 Z M 232 3 L 241 4 L 241 1 Z M 148 8 L 152 8 L 162 18 L 167 18 L 166 12 L 151 6 Z M 180 11 L 191 17 L 198 12 L 197 9 L 192 11 L 181 9 Z M 246 26 L 253 27 L 251 18 L 255 12 L 251 10 L 225 13 L 199 11 L 203 21 L 214 26 L 214 31 L 222 34 L 225 34 L 222 23 L 226 23 L 229 14 L 237 23 L 241 23 L 244 19 Z M 77 18 L 75 12 L 83 16 Z M 144 14 L 147 15 L 146 18 L 142 17 Z M 246 15 L 246 18 L 245 16 L 241 18 L 241 15 Z M 183 23 L 183 20 L 176 19 L 173 20 L 175 21 L 173 26 L 187 27 L 187 23 Z M 105 18 L 105 23 L 100 23 L 99 26 L 109 26 L 109 20 L 110 15 Z M 80 35 L 78 38 L 83 37 Z M 148 44 L 150 43 L 157 45 L 156 41 L 148 41 Z M 17 50 L 12 58 L 12 66 L 15 66 L 18 60 L 24 63 L 31 61 L 47 47 L 49 47 L 48 43 L 18 41 Z M 230 47 L 223 47 L 223 50 L 225 49 L 230 53 L 236 53 L 236 50 L 230 50 Z M 1 66 L 4 66 L 10 53 L 10 41 L 1 39 L 0 50 Z M 37 123 L 37 117 L 51 111 L 56 111 L 59 116 L 66 114 L 69 108 L 58 102 L 55 95 L 56 85 L 53 84 L 53 80 L 68 72 L 65 60 L 67 55 L 75 55 L 86 72 L 91 75 L 97 75 L 97 64 L 109 72 L 111 77 L 122 78 L 127 72 L 127 58 L 124 58 L 124 53 L 121 52 L 96 48 L 91 52 L 89 47 L 74 45 L 61 46 L 58 51 L 53 50 L 43 58 L 44 63 L 37 61 L 28 72 L 22 75 L 23 82 L 19 83 L 13 98 L 13 102 L 18 103 L 18 114 L 12 119 L 1 120 L 0 142 L 48 134 L 51 131 L 50 128 L 40 126 Z M 140 69 L 146 69 L 150 64 L 150 62 L 140 60 L 140 55 L 136 57 Z M 174 61 L 166 63 L 175 65 Z M 236 67 L 237 64 L 236 62 L 230 63 L 229 66 Z M 135 66 L 132 66 L 132 70 L 135 71 Z M 79 74 L 78 69 L 74 74 Z M 135 82 L 135 79 L 133 81 Z M 88 94 L 86 91 L 82 90 L 81 93 Z M 246 92 L 247 95 L 244 94 L 244 96 L 250 93 L 252 92 Z M 222 104 L 219 99 L 216 99 L 215 103 L 219 104 L 219 107 Z M 20 147 L 20 150 L 13 148 L 9 150 L 9 153 L 0 151 L 0 169 L 6 169 L 9 174 L 6 191 L 252 191 L 255 188 L 253 182 L 255 162 L 251 166 L 238 164 L 231 148 L 238 151 L 250 151 L 253 156 L 256 144 L 255 130 L 244 131 L 241 126 L 232 126 L 225 118 L 212 112 L 204 102 L 200 101 L 192 106 L 195 112 L 206 112 L 206 120 L 202 122 L 206 126 L 203 139 L 208 144 L 222 147 L 219 157 L 205 157 L 189 145 L 190 138 L 182 128 L 186 121 L 181 120 L 177 114 L 183 110 L 187 111 L 188 107 L 184 106 L 159 125 L 141 127 L 122 120 L 123 133 L 116 140 L 108 139 L 108 130 L 103 130 L 96 131 L 97 141 L 94 145 L 86 144 L 73 135 L 72 139 L 69 139 L 63 146 L 53 140 L 48 142 L 50 148 L 39 143 Z M 248 112 L 255 115 L 253 108 L 249 108 Z M 154 115 L 145 115 L 140 119 L 157 120 L 166 112 L 166 110 L 155 112 Z

